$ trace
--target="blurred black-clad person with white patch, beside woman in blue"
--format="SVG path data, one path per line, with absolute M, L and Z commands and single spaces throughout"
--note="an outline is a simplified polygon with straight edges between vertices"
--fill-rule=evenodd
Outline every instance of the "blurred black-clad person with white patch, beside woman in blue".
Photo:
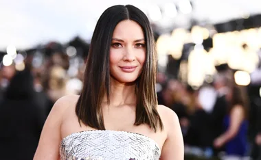
M 191 128 L 194 129 L 194 144 L 203 150 L 211 150 L 209 155 L 218 156 L 223 148 L 214 148 L 213 142 L 223 133 L 223 119 L 226 114 L 227 101 L 225 96 L 219 96 L 216 88 L 205 84 L 198 90 L 195 100 Z M 191 138 L 190 138 L 191 139 Z

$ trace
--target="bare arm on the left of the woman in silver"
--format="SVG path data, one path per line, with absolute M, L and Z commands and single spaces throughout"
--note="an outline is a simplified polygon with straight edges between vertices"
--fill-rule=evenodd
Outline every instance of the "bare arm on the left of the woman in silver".
M 60 125 L 62 122 L 63 111 L 65 111 L 66 106 L 66 96 L 60 98 L 54 104 L 54 107 L 52 108 L 52 111 L 50 112 L 45 125 L 43 126 L 43 131 L 41 133 L 40 141 L 34 155 L 34 160 L 60 159 Z

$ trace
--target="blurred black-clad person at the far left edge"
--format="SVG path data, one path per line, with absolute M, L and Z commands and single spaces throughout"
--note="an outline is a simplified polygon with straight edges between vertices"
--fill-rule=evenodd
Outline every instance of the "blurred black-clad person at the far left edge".
M 32 159 L 45 115 L 35 101 L 36 92 L 30 70 L 10 70 L 6 75 L 10 76 L 10 83 L 0 104 L 1 159 Z

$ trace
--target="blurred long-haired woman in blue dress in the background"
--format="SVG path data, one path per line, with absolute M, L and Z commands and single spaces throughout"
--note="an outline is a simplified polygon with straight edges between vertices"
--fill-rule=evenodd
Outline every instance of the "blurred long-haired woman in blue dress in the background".
M 240 159 L 247 155 L 247 101 L 241 88 L 234 85 L 231 92 L 227 94 L 229 101 L 228 114 L 224 118 L 225 133 L 220 135 L 214 146 L 220 148 L 225 146 L 225 159 Z

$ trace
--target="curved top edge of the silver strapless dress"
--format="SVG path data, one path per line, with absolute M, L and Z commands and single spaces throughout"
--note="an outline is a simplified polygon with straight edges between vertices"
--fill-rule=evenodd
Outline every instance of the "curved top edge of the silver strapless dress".
M 138 136 L 140 136 L 140 137 L 144 137 L 144 138 L 150 140 L 151 142 L 154 142 L 155 145 L 157 146 L 157 148 L 161 151 L 161 148 L 159 147 L 159 144 L 157 144 L 157 142 L 156 142 L 154 139 L 152 139 L 152 138 L 150 138 L 150 137 L 148 137 L 148 136 L 146 136 L 146 135 L 143 135 L 143 134 L 141 134 L 141 133 L 129 132 L 129 131 L 115 131 L 115 130 L 107 130 L 107 129 L 106 129 L 106 130 L 91 129 L 91 130 L 87 130 L 87 131 L 74 132 L 74 133 L 71 133 L 71 134 L 69 134 L 69 135 L 63 137 L 63 139 L 61 140 L 61 142 L 65 141 L 65 139 L 67 139 L 68 137 L 71 137 L 72 135 L 75 135 L 75 134 L 78 134 L 78 133 L 89 133 L 89 132 L 109 132 L 109 133 L 112 132 L 112 133 L 126 133 L 126 134 L 138 135 Z

